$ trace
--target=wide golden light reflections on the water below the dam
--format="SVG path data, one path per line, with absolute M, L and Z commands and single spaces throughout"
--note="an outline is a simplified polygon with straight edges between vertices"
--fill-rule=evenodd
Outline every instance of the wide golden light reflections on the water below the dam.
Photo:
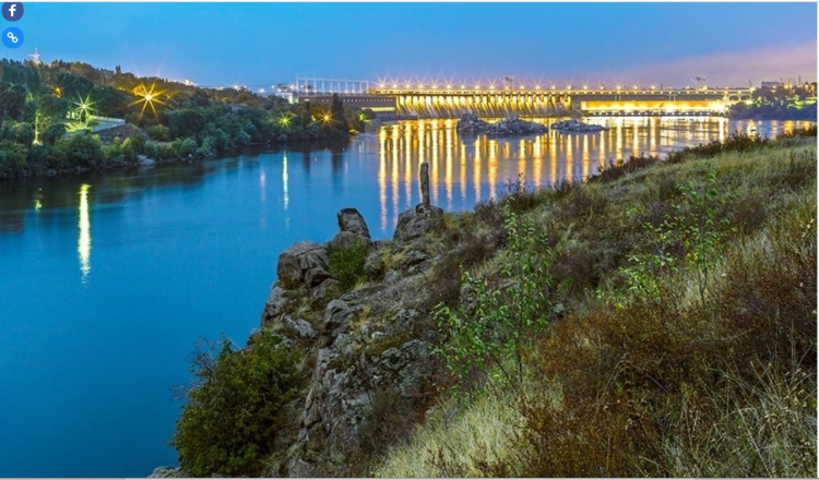
M 543 120 L 546 124 L 554 121 Z M 496 197 L 505 183 L 515 180 L 520 173 L 533 187 L 586 180 L 600 171 L 601 165 L 628 159 L 631 155 L 661 156 L 682 146 L 724 141 L 734 132 L 746 133 L 749 129 L 775 137 L 796 127 L 793 121 L 732 122 L 707 117 L 619 117 L 587 121 L 609 130 L 598 133 L 550 131 L 521 139 L 490 139 L 460 134 L 455 129 L 456 120 L 419 120 L 381 129 L 377 175 L 381 231 L 394 227 L 399 213 L 413 205 L 416 194 L 412 187 L 424 161 L 430 165 L 432 203 L 453 209 Z M 799 122 L 800 127 L 809 124 Z M 401 184 L 400 178 L 403 179 Z M 474 192 L 472 195 L 467 195 L 470 190 Z

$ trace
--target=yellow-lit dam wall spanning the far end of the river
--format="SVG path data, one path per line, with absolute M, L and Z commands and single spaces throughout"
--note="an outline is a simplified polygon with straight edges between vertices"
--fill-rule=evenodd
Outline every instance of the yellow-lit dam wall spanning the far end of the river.
M 395 99 L 402 117 L 456 119 L 554 117 L 566 110 L 585 115 L 721 115 L 732 104 L 750 98 L 750 88 L 632 91 L 452 91 L 376 88 L 371 95 Z

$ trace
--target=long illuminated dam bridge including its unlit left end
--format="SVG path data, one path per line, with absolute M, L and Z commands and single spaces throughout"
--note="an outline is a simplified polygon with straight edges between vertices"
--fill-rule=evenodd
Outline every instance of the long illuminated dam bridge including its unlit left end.
M 321 81 L 321 79 L 320 79 Z M 310 84 L 307 92 L 298 88 L 290 97 L 294 101 L 329 104 L 333 94 L 342 101 L 358 108 L 371 108 L 380 118 L 448 119 L 464 113 L 483 118 L 550 117 L 568 110 L 585 116 L 691 116 L 722 115 L 731 105 L 749 100 L 752 87 L 657 88 L 633 85 L 630 88 L 581 88 L 517 86 L 513 83 L 496 87 L 418 84 L 387 85 L 366 81 L 356 89 L 342 89 L 344 81 L 332 81 L 331 89 L 321 83 Z M 332 86 L 337 85 L 339 91 Z M 300 92 L 301 91 L 301 92 Z

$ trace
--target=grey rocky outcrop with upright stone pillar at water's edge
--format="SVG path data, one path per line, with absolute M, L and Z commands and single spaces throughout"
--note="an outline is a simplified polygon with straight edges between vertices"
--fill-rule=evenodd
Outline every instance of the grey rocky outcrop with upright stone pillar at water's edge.
M 347 472 L 373 429 L 384 428 L 379 409 L 404 415 L 425 400 L 434 338 L 414 332 L 432 322 L 424 309 L 437 253 L 425 235 L 442 224 L 443 211 L 429 203 L 428 167 L 420 172 L 422 203 L 401 214 L 392 241 L 373 242 L 364 217 L 345 208 L 327 245 L 299 242 L 280 254 L 262 328 L 302 349 L 310 371 L 299 398 L 280 415 L 266 475 Z M 327 249 L 355 243 L 367 247 L 364 273 L 378 281 L 344 293 L 329 273 Z

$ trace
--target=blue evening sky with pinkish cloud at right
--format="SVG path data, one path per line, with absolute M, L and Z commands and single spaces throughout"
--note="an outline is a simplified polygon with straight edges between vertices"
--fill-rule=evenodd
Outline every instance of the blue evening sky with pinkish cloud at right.
M 8 23 L 8 22 L 7 22 Z M 297 75 L 816 79 L 816 3 L 25 3 L 23 59 L 204 85 Z

